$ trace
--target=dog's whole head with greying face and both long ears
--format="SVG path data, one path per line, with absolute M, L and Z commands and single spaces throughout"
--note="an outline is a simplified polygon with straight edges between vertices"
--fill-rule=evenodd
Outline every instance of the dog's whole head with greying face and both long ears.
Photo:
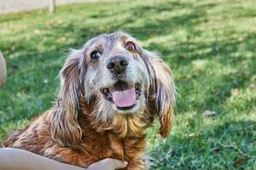
M 156 113 L 160 134 L 166 137 L 172 127 L 175 93 L 169 67 L 134 37 L 121 31 L 94 37 L 74 50 L 61 69 L 63 108 L 54 116 L 53 138 L 65 139 L 66 144 L 81 139 L 77 120 L 81 95 L 93 102 L 92 114 L 101 122 L 119 114 Z

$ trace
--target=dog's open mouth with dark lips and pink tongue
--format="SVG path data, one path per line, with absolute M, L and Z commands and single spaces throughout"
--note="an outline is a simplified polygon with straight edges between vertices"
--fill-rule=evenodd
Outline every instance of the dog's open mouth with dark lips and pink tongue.
M 131 110 L 141 96 L 139 83 L 130 85 L 121 81 L 114 83 L 112 88 L 102 88 L 101 92 L 119 110 Z

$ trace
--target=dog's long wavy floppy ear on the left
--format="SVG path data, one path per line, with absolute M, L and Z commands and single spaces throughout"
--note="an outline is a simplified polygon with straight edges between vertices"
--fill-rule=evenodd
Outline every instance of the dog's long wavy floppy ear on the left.
M 82 138 L 82 129 L 79 126 L 79 94 L 81 94 L 83 71 L 83 54 L 73 51 L 61 69 L 61 89 L 58 104 L 52 116 L 52 138 L 59 144 L 77 144 Z

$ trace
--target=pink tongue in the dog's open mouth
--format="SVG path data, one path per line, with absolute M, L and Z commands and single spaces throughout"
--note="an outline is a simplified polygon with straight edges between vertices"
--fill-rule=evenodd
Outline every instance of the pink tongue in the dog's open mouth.
M 128 88 L 123 91 L 113 91 L 113 102 L 119 107 L 129 107 L 135 104 L 135 88 Z

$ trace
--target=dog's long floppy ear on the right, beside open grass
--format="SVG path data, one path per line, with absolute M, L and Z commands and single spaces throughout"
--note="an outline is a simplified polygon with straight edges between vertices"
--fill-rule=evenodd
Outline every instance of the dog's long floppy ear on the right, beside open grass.
M 166 138 L 172 129 L 176 88 L 172 71 L 157 54 L 143 50 L 143 60 L 149 74 L 148 100 L 160 121 L 160 134 Z

